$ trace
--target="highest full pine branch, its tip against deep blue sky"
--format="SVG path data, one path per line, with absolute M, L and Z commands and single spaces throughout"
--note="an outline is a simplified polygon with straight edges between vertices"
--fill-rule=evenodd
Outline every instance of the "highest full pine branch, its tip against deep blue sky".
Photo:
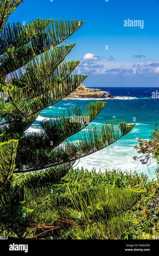
M 35 56 L 64 41 L 82 24 L 81 21 L 53 22 L 52 19 L 37 19 L 25 26 L 20 23 L 8 24 L 0 37 L 2 41 L 0 52 L 3 53 L 0 73 L 6 76 L 20 67 L 25 68 L 25 65 L 32 61 Z M 62 28 L 64 31 L 61 33 Z M 52 29 L 51 33 L 50 29 Z

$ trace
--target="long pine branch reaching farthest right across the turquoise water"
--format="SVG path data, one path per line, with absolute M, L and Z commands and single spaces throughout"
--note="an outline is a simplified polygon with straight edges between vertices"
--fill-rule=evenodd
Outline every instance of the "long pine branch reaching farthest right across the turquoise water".
M 22 159 L 27 159 L 27 161 L 25 160 L 27 170 L 20 170 L 21 168 L 19 166 L 18 170 L 15 170 L 15 173 L 42 170 L 95 153 L 126 135 L 133 129 L 134 125 L 135 124 L 126 124 L 126 130 L 123 134 L 121 127 L 125 126 L 125 123 L 120 122 L 118 126 L 116 120 L 113 120 L 112 122 L 105 122 L 105 124 L 99 125 L 98 128 L 94 127 L 93 129 L 84 131 L 83 136 L 79 137 L 79 142 L 76 143 L 76 145 L 66 142 L 54 150 L 47 147 L 27 153 L 24 151 L 22 157 L 20 154 L 18 155 L 19 159 L 17 158 L 17 161 L 21 163 L 22 166 Z M 34 159 L 34 162 L 32 159 Z

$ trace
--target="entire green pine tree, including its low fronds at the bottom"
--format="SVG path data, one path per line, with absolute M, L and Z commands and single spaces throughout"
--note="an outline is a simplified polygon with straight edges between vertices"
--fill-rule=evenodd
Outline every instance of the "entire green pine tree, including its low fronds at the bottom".
M 101 174 L 69 170 L 75 160 L 111 145 L 134 124 L 113 120 L 91 129 L 89 122 L 105 106 L 96 102 L 85 111 L 75 106 L 44 119 L 37 133 L 26 132 L 44 108 L 68 96 L 86 76 L 71 74 L 79 61 L 64 61 L 75 43 L 59 46 L 83 21 L 6 24 L 21 2 L 0 1 L 0 233 L 19 238 L 46 239 L 52 234 L 53 239 L 116 239 L 137 224 L 126 212 L 143 190 L 123 188 L 123 177 L 119 188 L 118 174 L 113 173 L 112 186 Z M 70 122 L 74 115 L 89 122 Z M 87 126 L 78 143 L 68 142 Z

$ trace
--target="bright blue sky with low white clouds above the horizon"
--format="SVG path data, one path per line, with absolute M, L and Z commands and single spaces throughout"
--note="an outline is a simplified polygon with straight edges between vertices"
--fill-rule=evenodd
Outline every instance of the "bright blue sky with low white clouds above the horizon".
M 86 86 L 154 87 L 159 85 L 158 7 L 158 0 L 25 0 L 8 22 L 85 21 L 66 40 L 76 43 L 66 60 L 81 61 L 75 73 L 88 75 Z M 144 21 L 143 28 L 124 27 L 128 19 Z

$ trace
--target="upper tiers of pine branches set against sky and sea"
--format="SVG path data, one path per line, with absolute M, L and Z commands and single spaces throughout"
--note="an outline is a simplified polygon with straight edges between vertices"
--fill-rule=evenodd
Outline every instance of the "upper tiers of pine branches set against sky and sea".
M 10 0 L 16 7 L 21 1 Z M 0 8 L 7 11 L 5 0 Z M 9 12 L 8 14 L 9 15 Z M 78 106 L 40 123 L 37 133 L 26 133 L 44 109 L 62 100 L 86 78 L 73 75 L 79 61 L 65 62 L 75 46 L 61 44 L 81 27 L 83 21 L 36 19 L 28 24 L 5 24 L 0 33 L 0 139 L 18 140 L 13 173 L 39 171 L 72 162 L 109 146 L 133 127 L 125 122 L 106 122 L 93 130 L 88 128 L 74 145 L 68 138 L 89 125 L 104 108 L 96 102 Z M 89 118 L 89 122 L 70 122 L 70 116 Z M 61 144 L 62 143 L 62 144 Z

